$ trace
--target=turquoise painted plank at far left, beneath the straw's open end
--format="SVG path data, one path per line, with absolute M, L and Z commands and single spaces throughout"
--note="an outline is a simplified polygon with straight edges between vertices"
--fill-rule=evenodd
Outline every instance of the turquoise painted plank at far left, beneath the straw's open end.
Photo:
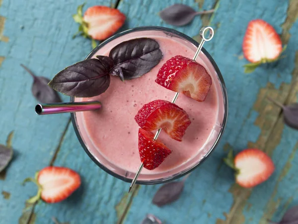
M 113 1 L 89 0 L 88 5 L 95 2 L 109 5 Z M 69 120 L 69 114 L 34 113 L 37 102 L 31 96 L 32 78 L 19 64 L 51 78 L 66 65 L 82 60 L 91 50 L 90 42 L 72 40 L 77 30 L 72 14 L 81 3 L 0 0 L 0 143 L 14 130 L 15 152 L 6 175 L 0 175 L 0 192 L 6 195 L 0 195 L 1 224 L 18 223 L 25 200 L 36 193 L 33 185 L 23 187 L 21 182 L 49 165 Z

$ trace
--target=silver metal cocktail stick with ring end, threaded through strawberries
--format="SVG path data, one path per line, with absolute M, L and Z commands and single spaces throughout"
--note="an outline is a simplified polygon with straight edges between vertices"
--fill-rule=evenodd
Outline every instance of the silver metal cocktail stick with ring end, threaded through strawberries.
M 208 32 L 208 31 L 209 31 L 209 35 L 208 35 L 207 38 L 205 38 L 204 34 L 206 34 L 206 32 Z M 198 57 L 198 55 L 199 55 L 199 53 L 200 53 L 200 51 L 201 51 L 201 49 L 203 47 L 203 44 L 205 43 L 205 41 L 211 40 L 213 38 L 213 35 L 214 35 L 214 30 L 213 30 L 212 27 L 210 27 L 210 26 L 208 26 L 208 27 L 202 27 L 202 29 L 200 30 L 200 37 L 202 38 L 202 40 L 201 40 L 201 43 L 199 44 L 199 47 L 198 47 L 198 49 L 197 49 L 197 51 L 196 51 L 196 53 L 195 53 L 195 55 L 193 57 L 193 60 L 196 60 L 197 59 L 197 57 Z M 172 103 L 173 104 L 175 104 L 178 96 L 179 96 L 179 93 L 176 93 L 175 96 L 174 96 L 174 98 L 173 98 L 173 100 L 172 100 Z M 155 133 L 155 135 L 153 137 L 153 140 L 156 140 L 157 139 L 160 131 L 161 131 L 161 128 L 159 128 L 156 131 L 156 133 Z M 137 171 L 137 173 L 136 173 L 135 178 L 133 179 L 133 181 L 132 181 L 132 183 L 131 183 L 131 185 L 129 187 L 128 193 L 133 189 L 134 185 L 136 184 L 136 181 L 137 181 L 137 179 L 138 179 L 138 177 L 139 177 L 139 175 L 140 175 L 140 173 L 141 173 L 141 171 L 143 169 L 143 166 L 144 166 L 144 164 L 142 162 L 141 165 L 140 165 L 140 167 L 139 167 L 139 169 L 138 169 L 138 171 Z

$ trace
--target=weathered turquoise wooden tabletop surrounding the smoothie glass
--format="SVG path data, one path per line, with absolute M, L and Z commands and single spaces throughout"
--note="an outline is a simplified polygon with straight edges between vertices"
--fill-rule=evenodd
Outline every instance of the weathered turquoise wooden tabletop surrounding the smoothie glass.
M 211 9 L 216 3 L 219 8 L 212 20 L 210 16 L 196 17 L 190 25 L 177 28 L 158 17 L 158 11 L 177 2 L 197 10 Z M 30 93 L 32 80 L 19 64 L 51 78 L 82 60 L 91 50 L 90 42 L 71 39 L 77 29 L 71 15 L 82 2 L 0 0 L 0 16 L 6 18 L 4 21 L 0 17 L 0 143 L 5 142 L 11 130 L 15 132 L 14 160 L 0 180 L 0 193 L 10 194 L 9 199 L 0 196 L 0 224 L 18 223 L 23 210 L 26 212 L 22 221 L 26 224 L 51 224 L 53 216 L 71 224 L 138 224 L 147 213 L 167 224 L 265 224 L 271 218 L 278 221 L 287 207 L 298 204 L 298 132 L 283 125 L 280 109 L 266 96 L 283 103 L 297 101 L 297 2 L 120 0 L 118 8 L 128 17 L 122 30 L 160 25 L 195 37 L 203 24 L 211 24 L 215 37 L 205 47 L 222 71 L 229 96 L 229 119 L 219 147 L 191 174 L 182 197 L 158 208 L 151 199 L 159 186 L 141 186 L 128 195 L 129 184 L 107 175 L 89 159 L 69 125 L 68 114 L 37 117 L 33 112 L 36 101 Z M 116 2 L 88 0 L 87 6 L 112 3 Z M 248 21 L 255 18 L 265 19 L 282 33 L 283 42 L 288 43 L 287 57 L 244 74 L 242 65 L 247 62 L 241 57 L 241 43 Z M 222 164 L 226 149 L 240 151 L 246 147 L 268 152 L 276 164 L 274 175 L 253 190 L 233 185 L 232 172 Z M 49 165 L 57 149 L 54 165 L 78 171 L 82 187 L 62 203 L 40 203 L 25 209 L 25 200 L 36 189 L 30 184 L 21 186 L 21 181 Z

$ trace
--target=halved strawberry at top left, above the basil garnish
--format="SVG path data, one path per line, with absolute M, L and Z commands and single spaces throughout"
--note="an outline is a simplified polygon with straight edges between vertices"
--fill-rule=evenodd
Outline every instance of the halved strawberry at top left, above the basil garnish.
M 116 8 L 102 5 L 89 7 L 82 17 L 82 8 L 79 5 L 74 21 L 79 23 L 77 34 L 92 37 L 95 40 L 104 40 L 113 35 L 125 22 L 126 16 Z

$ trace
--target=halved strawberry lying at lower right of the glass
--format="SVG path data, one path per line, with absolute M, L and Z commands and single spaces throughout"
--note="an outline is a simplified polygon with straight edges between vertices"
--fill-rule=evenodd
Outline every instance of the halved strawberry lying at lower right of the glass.
M 263 183 L 275 169 L 271 158 L 265 152 L 254 148 L 239 152 L 235 158 L 230 151 L 224 162 L 236 171 L 236 183 L 244 188 Z

